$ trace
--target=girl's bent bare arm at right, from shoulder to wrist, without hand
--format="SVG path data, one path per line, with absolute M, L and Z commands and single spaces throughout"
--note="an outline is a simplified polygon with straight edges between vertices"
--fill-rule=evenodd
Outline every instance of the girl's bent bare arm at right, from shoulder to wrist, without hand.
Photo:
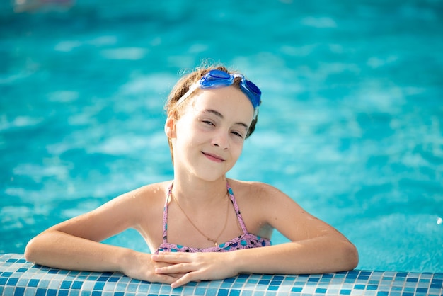
M 234 252 L 239 273 L 328 273 L 357 266 L 357 249 L 343 234 L 279 190 L 260 186 L 264 186 L 260 208 L 267 210 L 257 211 L 291 242 Z

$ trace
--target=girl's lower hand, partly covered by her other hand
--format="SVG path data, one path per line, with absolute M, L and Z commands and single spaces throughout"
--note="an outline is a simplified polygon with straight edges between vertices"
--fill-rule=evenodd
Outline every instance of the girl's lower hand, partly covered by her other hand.
M 123 263 L 122 273 L 137 280 L 146 280 L 152 283 L 174 283 L 178 278 L 181 278 L 183 273 L 156 273 L 157 268 L 166 268 L 173 264 L 161 261 L 154 261 L 154 255 L 145 254 L 137 251 L 131 252 Z

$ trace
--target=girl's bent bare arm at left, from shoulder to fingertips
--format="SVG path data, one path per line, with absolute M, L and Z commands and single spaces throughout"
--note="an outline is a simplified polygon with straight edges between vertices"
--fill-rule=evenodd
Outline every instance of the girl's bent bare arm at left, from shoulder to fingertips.
M 137 227 L 137 192 L 122 195 L 98 209 L 47 229 L 25 249 L 26 260 L 43 266 L 79 271 L 118 271 L 139 280 L 172 283 L 174 275 L 158 275 L 151 254 L 99 241 Z

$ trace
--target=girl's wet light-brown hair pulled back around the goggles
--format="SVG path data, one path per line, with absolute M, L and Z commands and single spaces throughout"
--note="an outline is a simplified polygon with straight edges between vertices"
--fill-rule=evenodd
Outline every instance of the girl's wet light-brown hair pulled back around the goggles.
M 199 81 L 202 78 L 202 76 L 205 76 L 205 74 L 207 74 L 207 72 L 209 72 L 210 70 L 213 70 L 213 69 L 221 70 L 221 71 L 226 72 L 228 74 L 235 73 L 234 71 L 229 71 L 229 69 L 227 69 L 226 67 L 224 67 L 222 65 L 214 65 L 214 66 L 198 67 L 197 69 L 195 69 L 195 71 L 193 71 L 189 74 L 185 74 L 177 81 L 176 85 L 173 86 L 171 93 L 169 93 L 168 100 L 166 101 L 165 106 L 164 106 L 166 114 L 169 115 L 172 113 L 174 118 L 176 120 L 178 120 L 180 118 L 180 116 L 183 114 L 183 110 L 185 109 L 185 107 L 188 106 L 188 103 L 192 101 L 192 96 L 190 96 L 190 98 L 185 99 L 185 101 L 183 103 L 180 103 L 179 106 L 176 106 L 177 101 L 186 92 L 188 92 L 188 90 L 189 90 L 190 86 L 192 86 L 192 84 L 197 83 L 197 81 Z M 240 89 L 240 82 L 241 82 L 241 78 L 237 77 L 236 79 L 234 79 L 234 84 L 232 84 L 232 85 L 234 87 Z M 257 124 L 257 120 L 258 120 L 258 116 L 253 118 L 251 125 L 249 126 L 249 130 L 246 133 L 246 138 L 251 136 L 252 133 L 254 132 L 255 125 Z M 168 142 L 169 142 L 169 149 L 171 149 L 171 156 L 173 158 L 172 142 L 171 142 L 170 138 L 168 138 Z

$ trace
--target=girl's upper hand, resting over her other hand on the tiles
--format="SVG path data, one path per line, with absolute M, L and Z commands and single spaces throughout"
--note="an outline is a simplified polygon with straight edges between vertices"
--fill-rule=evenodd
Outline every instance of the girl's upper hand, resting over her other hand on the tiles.
M 151 258 L 166 264 L 155 268 L 158 275 L 180 275 L 171 283 L 171 288 L 177 288 L 190 281 L 222 280 L 237 275 L 234 264 L 229 262 L 230 253 L 160 252 Z

